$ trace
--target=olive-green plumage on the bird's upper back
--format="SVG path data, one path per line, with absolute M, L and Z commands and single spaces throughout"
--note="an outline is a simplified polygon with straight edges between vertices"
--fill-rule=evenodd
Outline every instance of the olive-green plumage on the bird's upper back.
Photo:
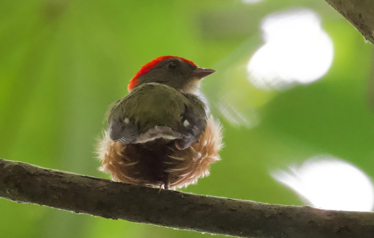
M 183 123 L 181 115 L 187 108 L 197 117 L 206 117 L 205 105 L 197 96 L 182 94 L 163 84 L 148 83 L 134 88 L 126 97 L 112 103 L 106 117 L 107 120 L 134 120 L 139 133 L 147 132 L 154 126 L 169 126 L 177 130 Z

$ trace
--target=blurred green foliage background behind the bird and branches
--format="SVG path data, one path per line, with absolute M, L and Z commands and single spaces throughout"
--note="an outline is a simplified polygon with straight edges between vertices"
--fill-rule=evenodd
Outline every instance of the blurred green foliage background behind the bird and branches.
M 255 88 L 245 67 L 263 44 L 261 19 L 294 6 L 321 17 L 332 66 L 310 84 Z M 270 173 L 318 154 L 374 178 L 373 46 L 323 0 L 0 0 L 0 157 L 109 178 L 93 152 L 107 105 L 160 55 L 217 70 L 202 93 L 224 124 L 226 147 L 211 175 L 182 191 L 304 205 Z M 236 108 L 223 110 L 227 102 Z M 6 237 L 211 236 L 6 199 L 0 228 Z

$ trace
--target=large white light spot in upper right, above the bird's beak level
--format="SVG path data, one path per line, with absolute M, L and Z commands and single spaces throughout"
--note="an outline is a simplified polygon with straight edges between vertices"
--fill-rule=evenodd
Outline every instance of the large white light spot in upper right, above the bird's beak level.
M 328 72 L 334 48 L 319 16 L 297 9 L 266 16 L 261 24 L 265 44 L 252 56 L 249 81 L 262 89 L 308 84 Z

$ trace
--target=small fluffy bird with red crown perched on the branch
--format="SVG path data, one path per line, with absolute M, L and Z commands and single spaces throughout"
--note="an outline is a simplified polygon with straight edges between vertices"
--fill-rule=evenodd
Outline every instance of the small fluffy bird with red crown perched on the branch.
M 222 126 L 197 96 L 201 79 L 215 70 L 161 56 L 130 80 L 128 95 L 109 106 L 99 141 L 100 171 L 114 181 L 178 189 L 209 175 L 220 160 Z

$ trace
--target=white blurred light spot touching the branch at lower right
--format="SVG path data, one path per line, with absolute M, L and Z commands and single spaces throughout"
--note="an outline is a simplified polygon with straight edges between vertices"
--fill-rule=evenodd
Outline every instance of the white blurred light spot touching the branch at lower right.
M 273 178 L 295 190 L 317 208 L 372 211 L 374 189 L 370 178 L 348 162 L 334 157 L 313 157 Z

